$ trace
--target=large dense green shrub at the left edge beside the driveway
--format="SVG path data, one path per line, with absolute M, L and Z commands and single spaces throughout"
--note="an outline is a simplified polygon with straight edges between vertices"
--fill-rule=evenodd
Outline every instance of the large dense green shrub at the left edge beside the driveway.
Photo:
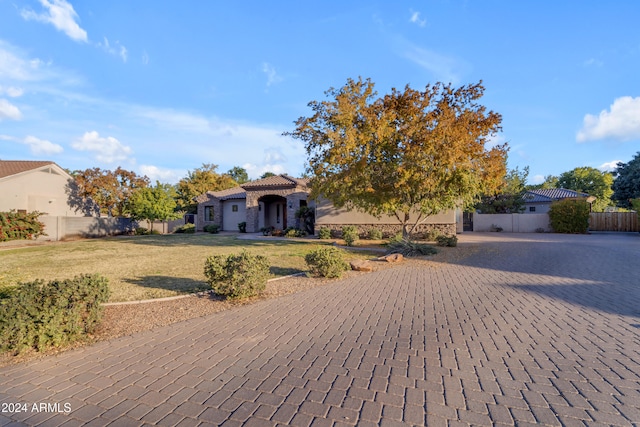
M 100 275 L 22 283 L 0 300 L 0 351 L 77 341 L 95 330 L 108 299 L 108 281 Z

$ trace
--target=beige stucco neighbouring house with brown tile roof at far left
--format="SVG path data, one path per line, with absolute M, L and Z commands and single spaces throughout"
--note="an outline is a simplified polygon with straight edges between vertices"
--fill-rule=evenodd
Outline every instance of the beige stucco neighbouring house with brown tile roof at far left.
M 54 162 L 0 160 L 0 211 L 84 216 L 70 196 L 74 183 Z

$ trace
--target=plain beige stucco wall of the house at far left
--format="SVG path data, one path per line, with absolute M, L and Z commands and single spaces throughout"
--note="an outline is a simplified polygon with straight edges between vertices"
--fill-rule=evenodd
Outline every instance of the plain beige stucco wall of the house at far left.
M 54 166 L 47 170 L 35 169 L 0 180 L 0 211 L 15 209 L 53 216 L 84 216 L 69 203 L 66 190 L 73 181 L 56 169 Z

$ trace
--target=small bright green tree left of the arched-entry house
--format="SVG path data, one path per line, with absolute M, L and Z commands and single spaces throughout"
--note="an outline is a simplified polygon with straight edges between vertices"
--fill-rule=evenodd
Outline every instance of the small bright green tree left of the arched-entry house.
M 175 189 L 169 184 L 156 181 L 154 187 L 137 190 L 129 199 L 128 211 L 137 220 L 147 220 L 153 232 L 153 222 L 177 219 L 182 212 L 176 212 Z

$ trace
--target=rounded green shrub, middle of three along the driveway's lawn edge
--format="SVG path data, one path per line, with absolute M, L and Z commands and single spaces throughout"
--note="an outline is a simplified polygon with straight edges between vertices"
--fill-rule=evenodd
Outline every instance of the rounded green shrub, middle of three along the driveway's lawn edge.
M 211 289 L 226 298 L 247 298 L 264 291 L 269 279 L 269 263 L 262 255 L 246 250 L 239 254 L 212 255 L 204 264 Z

